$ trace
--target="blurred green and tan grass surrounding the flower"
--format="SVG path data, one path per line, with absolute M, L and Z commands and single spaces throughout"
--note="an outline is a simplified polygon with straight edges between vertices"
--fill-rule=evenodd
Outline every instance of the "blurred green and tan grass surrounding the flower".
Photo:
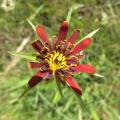
M 75 76 L 88 110 L 67 86 L 61 99 L 54 81 L 40 83 L 15 103 L 35 71 L 28 69 L 27 60 L 8 51 L 34 53 L 31 41 L 36 36 L 27 19 L 43 24 L 52 37 L 70 7 L 69 34 L 80 28 L 81 39 L 100 28 L 85 51 L 85 62 L 104 78 Z M 120 1 L 0 0 L 0 120 L 120 120 Z

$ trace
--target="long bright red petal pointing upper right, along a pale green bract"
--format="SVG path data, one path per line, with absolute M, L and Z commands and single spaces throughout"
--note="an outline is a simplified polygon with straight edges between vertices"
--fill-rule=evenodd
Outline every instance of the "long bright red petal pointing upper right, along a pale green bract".
M 79 53 L 80 51 L 84 50 L 85 48 L 87 48 L 90 44 L 91 44 L 91 38 L 86 38 L 83 41 L 81 41 L 80 43 L 78 43 L 75 48 L 73 49 L 71 54 L 76 54 Z

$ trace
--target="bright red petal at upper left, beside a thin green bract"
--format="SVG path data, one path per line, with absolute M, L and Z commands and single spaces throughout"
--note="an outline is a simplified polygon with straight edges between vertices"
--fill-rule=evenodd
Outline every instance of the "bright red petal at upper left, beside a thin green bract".
M 48 34 L 43 26 L 38 25 L 36 27 L 36 32 L 43 42 L 49 43 Z

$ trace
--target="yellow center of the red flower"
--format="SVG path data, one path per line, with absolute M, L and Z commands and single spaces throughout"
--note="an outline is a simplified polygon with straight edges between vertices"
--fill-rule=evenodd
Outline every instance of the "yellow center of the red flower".
M 49 64 L 49 67 L 52 71 L 67 67 L 66 57 L 59 51 L 53 51 L 52 53 L 48 54 L 45 57 L 45 60 Z

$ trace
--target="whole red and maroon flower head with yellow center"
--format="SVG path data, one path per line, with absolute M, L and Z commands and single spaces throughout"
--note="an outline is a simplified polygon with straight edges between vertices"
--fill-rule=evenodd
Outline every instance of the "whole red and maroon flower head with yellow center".
M 84 57 L 81 51 L 86 49 L 92 40 L 85 38 L 75 45 L 80 36 L 80 30 L 76 29 L 66 39 L 68 27 L 68 21 L 64 21 L 60 26 L 58 37 L 54 36 L 52 41 L 49 40 L 43 26 L 38 25 L 36 27 L 40 40 L 34 41 L 32 47 L 38 52 L 36 55 L 37 62 L 29 62 L 29 67 L 38 68 L 39 71 L 29 80 L 29 88 L 36 86 L 42 80 L 50 80 L 54 75 L 58 82 L 67 83 L 70 88 L 82 95 L 81 88 L 72 76 L 75 73 L 94 74 L 96 72 L 95 67 L 80 63 Z

